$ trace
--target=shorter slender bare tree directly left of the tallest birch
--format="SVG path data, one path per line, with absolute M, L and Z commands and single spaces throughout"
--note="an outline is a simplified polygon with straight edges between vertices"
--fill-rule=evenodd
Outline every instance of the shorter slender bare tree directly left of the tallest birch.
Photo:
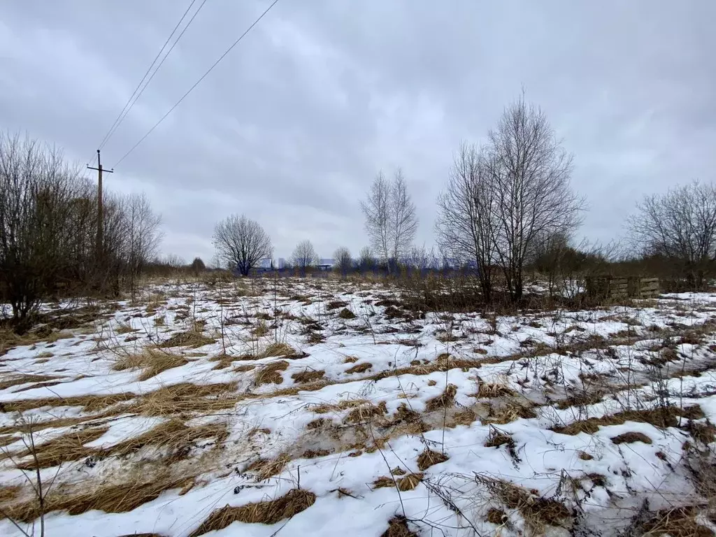
M 475 263 L 487 303 L 492 299 L 498 221 L 489 158 L 482 147 L 463 142 L 437 198 L 435 223 L 440 251 L 456 261 Z

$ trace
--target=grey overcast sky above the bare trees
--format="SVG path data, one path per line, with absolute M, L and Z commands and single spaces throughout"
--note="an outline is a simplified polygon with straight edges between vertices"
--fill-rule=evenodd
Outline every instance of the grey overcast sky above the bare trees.
M 189 3 L 0 0 L 0 127 L 86 163 Z M 206 1 L 105 166 L 269 4 Z M 246 213 L 276 256 L 327 257 L 367 243 L 359 200 L 401 166 L 430 247 L 453 151 L 524 86 L 574 153 L 581 233 L 609 241 L 644 193 L 715 179 L 715 20 L 713 0 L 280 0 L 105 185 L 147 193 L 163 253 L 209 260 Z

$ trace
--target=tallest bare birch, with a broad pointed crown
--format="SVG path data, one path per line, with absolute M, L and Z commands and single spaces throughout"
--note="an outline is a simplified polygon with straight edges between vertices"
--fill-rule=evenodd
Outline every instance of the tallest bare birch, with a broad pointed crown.
M 488 133 L 485 160 L 496 196 L 495 253 L 513 301 L 523 292 L 523 267 L 541 233 L 579 225 L 584 202 L 571 190 L 572 158 L 544 112 L 521 99 L 507 107 Z

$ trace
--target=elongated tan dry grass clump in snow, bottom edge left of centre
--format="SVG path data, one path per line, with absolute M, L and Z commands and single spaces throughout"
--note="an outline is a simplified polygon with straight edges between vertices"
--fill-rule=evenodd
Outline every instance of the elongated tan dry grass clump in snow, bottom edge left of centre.
M 306 511 L 316 501 L 309 490 L 294 488 L 275 500 L 247 503 L 241 507 L 226 505 L 213 511 L 189 537 L 199 537 L 210 531 L 218 531 L 239 521 L 253 524 L 275 524 Z

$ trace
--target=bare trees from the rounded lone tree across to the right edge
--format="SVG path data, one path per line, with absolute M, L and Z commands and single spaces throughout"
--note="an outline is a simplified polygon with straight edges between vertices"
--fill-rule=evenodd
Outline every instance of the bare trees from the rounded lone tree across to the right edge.
M 713 185 L 695 182 L 647 195 L 628 220 L 628 244 L 605 248 L 574 244 L 587 207 L 571 187 L 572 170 L 573 155 L 561 145 L 545 112 L 521 95 L 505 107 L 482 142 L 463 142 L 455 152 L 437 198 L 437 254 L 414 245 L 418 218 L 399 168 L 392 178 L 379 172 L 361 203 L 370 246 L 357 258 L 339 248 L 335 268 L 342 274 L 377 268 L 397 274 L 406 267 L 472 267 L 485 302 L 492 299 L 498 279 L 510 299 L 519 302 L 526 269 L 546 275 L 552 292 L 558 275 L 571 278 L 586 266 L 613 270 L 610 262 L 616 260 L 641 263 L 647 271 L 665 266 L 669 270 L 662 269 L 662 276 L 690 288 L 705 285 L 716 262 Z M 238 248 L 242 241 L 245 247 Z M 246 216 L 218 224 L 214 243 L 221 260 L 241 274 L 273 252 L 269 236 Z M 310 241 L 296 246 L 290 263 L 301 271 L 316 265 Z

